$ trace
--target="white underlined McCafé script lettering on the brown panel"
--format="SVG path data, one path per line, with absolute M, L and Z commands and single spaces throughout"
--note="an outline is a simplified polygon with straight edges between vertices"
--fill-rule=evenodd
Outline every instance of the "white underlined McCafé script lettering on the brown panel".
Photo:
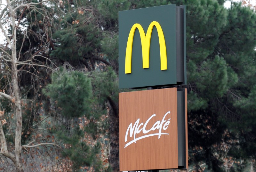
M 148 118 L 148 120 L 145 122 L 145 124 L 142 122 L 140 123 L 140 118 L 138 118 L 136 120 L 136 122 L 134 123 L 134 125 L 132 125 L 132 123 L 128 126 L 127 130 L 126 130 L 126 133 L 125 133 L 125 142 L 127 142 L 127 137 L 128 137 L 128 133 L 129 133 L 129 130 L 130 130 L 130 137 L 132 137 L 133 135 L 133 140 L 126 143 L 124 146 L 127 147 L 129 145 L 131 145 L 132 143 L 136 143 L 136 141 L 140 140 L 140 139 L 144 139 L 146 137 L 150 137 L 150 136 L 157 136 L 158 135 L 158 139 L 160 139 L 161 135 L 164 135 L 164 134 L 167 134 L 169 135 L 169 133 L 161 133 L 162 132 L 162 128 L 163 130 L 166 130 L 168 128 L 168 125 L 170 124 L 170 121 L 171 118 L 165 120 L 164 118 L 166 117 L 167 114 L 171 113 L 170 111 L 166 112 L 162 121 L 156 121 L 156 123 L 149 129 L 149 130 L 146 130 L 146 127 L 148 125 L 148 122 L 156 116 L 156 114 L 153 114 L 151 115 L 151 117 Z M 140 124 L 139 124 L 140 123 Z M 143 125 L 143 127 L 142 127 Z M 149 133 L 150 131 L 155 131 L 156 129 L 159 130 L 158 133 L 154 133 L 154 134 L 147 134 Z M 141 137 L 138 137 L 136 138 L 136 134 L 139 134 L 140 132 L 142 131 L 142 133 L 144 134 L 147 134 L 147 135 L 144 135 L 144 136 L 141 136 Z M 124 147 L 124 148 L 125 148 Z

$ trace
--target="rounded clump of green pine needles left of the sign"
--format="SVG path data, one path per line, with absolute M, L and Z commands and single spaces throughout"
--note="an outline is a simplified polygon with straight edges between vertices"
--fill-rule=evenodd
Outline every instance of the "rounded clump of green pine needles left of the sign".
M 44 92 L 56 102 L 63 116 L 89 116 L 92 86 L 84 73 L 61 68 L 53 73 L 52 84 L 48 84 Z

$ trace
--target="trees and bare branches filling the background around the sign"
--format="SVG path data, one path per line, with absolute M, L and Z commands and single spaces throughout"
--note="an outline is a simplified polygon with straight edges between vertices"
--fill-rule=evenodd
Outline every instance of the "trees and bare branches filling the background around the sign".
M 118 171 L 118 11 L 186 5 L 187 171 L 256 169 L 250 1 L 0 0 L 0 170 Z

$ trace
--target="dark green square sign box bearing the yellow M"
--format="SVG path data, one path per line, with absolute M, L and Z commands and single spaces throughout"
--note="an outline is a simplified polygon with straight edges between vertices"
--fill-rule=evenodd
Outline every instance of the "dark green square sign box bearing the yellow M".
M 119 88 L 186 84 L 184 6 L 119 11 Z

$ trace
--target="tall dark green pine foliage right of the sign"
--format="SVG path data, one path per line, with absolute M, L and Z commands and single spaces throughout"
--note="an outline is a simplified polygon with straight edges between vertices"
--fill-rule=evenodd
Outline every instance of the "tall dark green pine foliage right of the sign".
M 186 3 L 190 162 L 226 171 L 224 158 L 251 161 L 255 154 L 255 113 L 241 104 L 255 85 L 256 15 L 237 3 L 226 10 L 217 1 L 191 2 Z

